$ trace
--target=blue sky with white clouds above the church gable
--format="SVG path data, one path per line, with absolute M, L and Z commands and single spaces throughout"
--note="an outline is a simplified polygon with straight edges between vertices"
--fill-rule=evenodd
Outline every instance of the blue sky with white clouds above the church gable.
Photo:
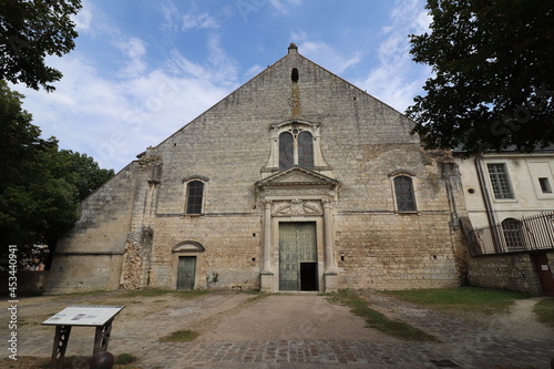
M 428 31 L 425 0 L 83 0 L 75 49 L 47 64 L 47 93 L 23 109 L 60 148 L 116 172 L 268 65 L 298 52 L 400 112 L 428 65 L 409 34 Z

